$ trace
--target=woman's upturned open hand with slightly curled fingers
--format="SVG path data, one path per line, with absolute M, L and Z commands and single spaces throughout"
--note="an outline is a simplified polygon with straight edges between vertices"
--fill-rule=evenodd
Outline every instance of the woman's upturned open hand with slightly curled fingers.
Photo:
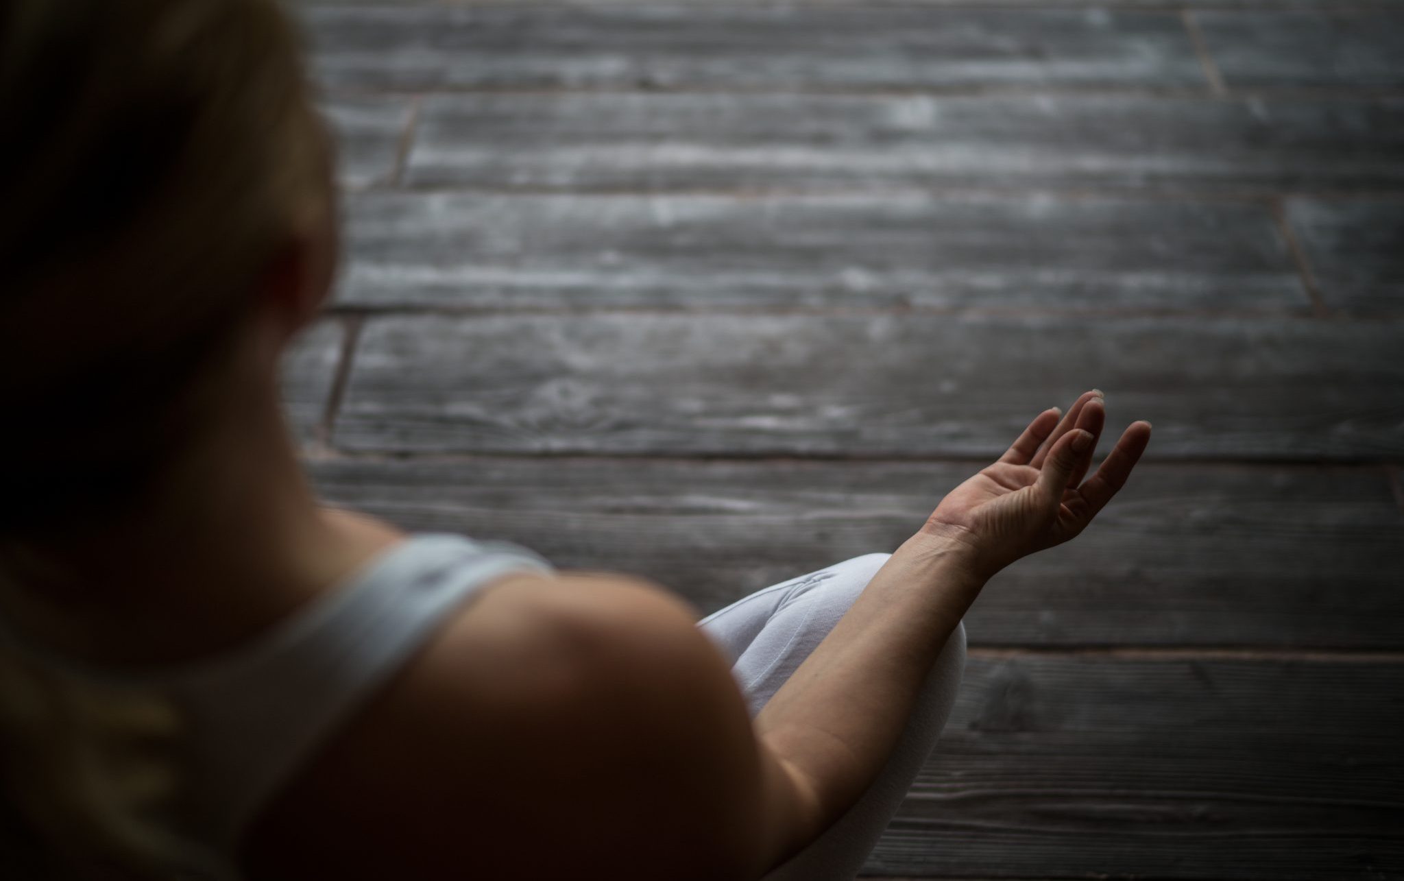
M 951 490 L 917 535 L 959 544 L 984 579 L 1078 535 L 1126 483 L 1150 443 L 1150 423 L 1133 422 L 1080 486 L 1105 419 L 1105 400 L 1095 389 L 1078 398 L 1061 422 L 1057 407 L 1043 410 L 1000 461 Z M 1085 447 L 1074 450 L 1078 443 Z

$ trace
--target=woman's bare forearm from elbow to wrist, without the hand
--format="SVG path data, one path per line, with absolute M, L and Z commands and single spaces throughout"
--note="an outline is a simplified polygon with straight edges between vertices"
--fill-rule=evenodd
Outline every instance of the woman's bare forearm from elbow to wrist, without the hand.
M 882 770 L 948 637 L 984 580 L 959 545 L 897 548 L 834 629 L 755 717 L 757 735 L 813 788 L 819 836 Z

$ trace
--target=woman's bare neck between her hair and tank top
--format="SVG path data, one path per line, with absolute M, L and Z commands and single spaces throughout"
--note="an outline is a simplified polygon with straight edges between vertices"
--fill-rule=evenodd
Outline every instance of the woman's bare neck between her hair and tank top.
M 194 660 L 265 629 L 404 538 L 317 502 L 272 388 L 234 409 L 147 510 L 62 547 L 0 551 L 10 627 L 94 663 Z M 63 575 L 46 577 L 53 570 Z

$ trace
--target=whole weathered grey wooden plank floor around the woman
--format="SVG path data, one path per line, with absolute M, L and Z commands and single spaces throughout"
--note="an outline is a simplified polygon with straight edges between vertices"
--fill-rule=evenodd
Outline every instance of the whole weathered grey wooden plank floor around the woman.
M 1404 878 L 1404 4 L 299 14 L 326 497 L 709 613 L 1099 386 L 1146 461 L 986 587 L 868 871 Z

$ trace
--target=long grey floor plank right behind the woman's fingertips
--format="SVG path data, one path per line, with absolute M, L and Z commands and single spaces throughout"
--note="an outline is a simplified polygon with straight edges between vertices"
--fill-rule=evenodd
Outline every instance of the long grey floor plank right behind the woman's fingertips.
M 876 315 L 372 318 L 334 443 L 995 457 L 1080 391 L 1155 458 L 1398 458 L 1404 326 Z M 1125 423 L 1122 423 L 1125 424 Z

